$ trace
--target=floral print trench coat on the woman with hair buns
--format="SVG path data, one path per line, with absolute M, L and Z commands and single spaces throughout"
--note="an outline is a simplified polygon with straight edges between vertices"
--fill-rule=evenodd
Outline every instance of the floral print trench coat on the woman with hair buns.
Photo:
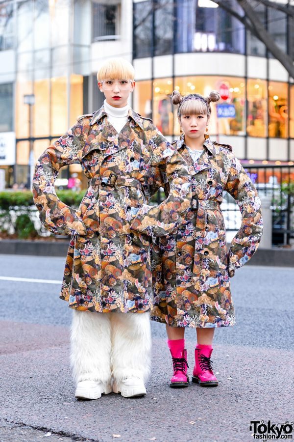
M 183 138 L 173 144 L 192 175 L 192 204 L 176 234 L 157 239 L 153 247 L 151 319 L 174 327 L 231 326 L 235 312 L 229 278 L 259 246 L 261 202 L 230 146 L 208 138 L 194 164 Z M 229 251 L 220 208 L 223 191 L 234 197 L 242 213 Z

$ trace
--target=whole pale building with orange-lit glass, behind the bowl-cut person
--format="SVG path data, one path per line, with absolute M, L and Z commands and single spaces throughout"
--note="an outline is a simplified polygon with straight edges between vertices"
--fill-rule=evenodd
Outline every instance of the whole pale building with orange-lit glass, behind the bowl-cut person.
M 77 116 L 101 106 L 99 63 L 132 61 L 131 22 L 132 0 L 0 0 L 0 146 L 7 140 L 4 149 L 15 151 L 9 164 L 0 152 L 6 187 L 27 183 L 30 150 L 35 163 Z M 58 178 L 73 172 L 85 180 L 77 164 Z

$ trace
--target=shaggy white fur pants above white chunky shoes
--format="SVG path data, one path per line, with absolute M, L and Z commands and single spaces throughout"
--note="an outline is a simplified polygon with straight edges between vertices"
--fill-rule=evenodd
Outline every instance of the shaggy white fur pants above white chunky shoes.
M 73 311 L 71 365 L 80 381 L 120 382 L 127 376 L 147 381 L 151 331 L 147 313 Z

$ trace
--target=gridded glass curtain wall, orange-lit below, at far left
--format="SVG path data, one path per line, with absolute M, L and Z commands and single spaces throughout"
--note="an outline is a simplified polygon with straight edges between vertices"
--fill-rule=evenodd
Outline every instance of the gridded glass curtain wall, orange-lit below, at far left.
M 79 41 L 79 33 L 86 28 L 83 23 L 86 11 L 81 12 L 84 3 L 71 0 L 0 3 L 0 63 L 12 58 L 15 64 L 13 75 L 12 66 L 5 63 L 0 66 L 0 131 L 14 131 L 16 138 L 16 164 L 0 166 L 5 168 L 7 186 L 27 182 L 30 141 L 36 162 L 46 147 L 84 111 L 83 89 L 87 83 L 84 71 L 88 66 L 81 66 L 80 60 L 82 56 L 89 58 L 91 44 L 87 33 Z M 80 24 L 74 27 L 77 13 Z M 1 77 L 9 75 L 12 81 L 1 83 Z M 31 124 L 25 95 L 34 96 Z M 63 170 L 62 176 L 68 173 Z

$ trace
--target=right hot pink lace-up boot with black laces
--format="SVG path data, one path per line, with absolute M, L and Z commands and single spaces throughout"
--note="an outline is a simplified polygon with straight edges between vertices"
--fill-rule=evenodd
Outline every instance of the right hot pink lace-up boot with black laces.
M 217 387 L 219 382 L 212 371 L 210 359 L 213 348 L 210 345 L 197 344 L 195 349 L 195 366 L 192 382 L 201 387 Z

